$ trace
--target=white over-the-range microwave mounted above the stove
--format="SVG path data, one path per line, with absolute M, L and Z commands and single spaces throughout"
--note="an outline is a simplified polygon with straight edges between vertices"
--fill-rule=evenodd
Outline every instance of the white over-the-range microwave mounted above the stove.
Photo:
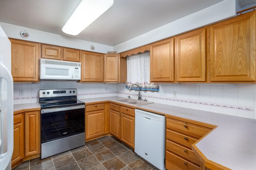
M 81 63 L 40 59 L 40 80 L 81 80 Z

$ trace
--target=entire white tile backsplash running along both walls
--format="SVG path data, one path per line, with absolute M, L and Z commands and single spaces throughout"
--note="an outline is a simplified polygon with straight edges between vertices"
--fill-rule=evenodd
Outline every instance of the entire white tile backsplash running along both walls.
M 256 119 L 255 84 L 160 84 L 159 92 L 141 91 L 142 99 Z M 40 89 L 77 88 L 78 99 L 122 96 L 137 99 L 138 91 L 128 90 L 125 83 L 77 83 L 73 81 L 41 81 L 14 83 L 14 104 L 36 103 Z M 20 96 L 23 90 L 23 96 Z M 174 95 L 174 93 L 176 95 Z

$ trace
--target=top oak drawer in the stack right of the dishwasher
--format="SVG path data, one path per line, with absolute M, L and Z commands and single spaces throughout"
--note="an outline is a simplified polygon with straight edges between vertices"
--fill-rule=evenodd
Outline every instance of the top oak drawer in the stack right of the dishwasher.
M 204 136 L 206 133 L 210 131 L 202 127 L 191 125 L 190 123 L 175 121 L 172 119 L 166 119 L 166 128 L 172 129 L 174 131 L 178 131 L 181 133 L 185 133 L 187 135 L 196 137 L 198 139 L 200 139 L 202 136 Z

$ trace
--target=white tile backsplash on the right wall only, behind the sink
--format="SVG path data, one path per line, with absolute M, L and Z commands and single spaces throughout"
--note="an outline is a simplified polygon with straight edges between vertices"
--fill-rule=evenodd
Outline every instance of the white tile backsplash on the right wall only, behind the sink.
M 150 102 L 256 119 L 255 87 L 256 84 L 160 84 L 159 92 L 141 91 L 141 95 Z M 160 96 L 161 91 L 166 91 L 166 95 Z M 174 91 L 177 98 L 173 97 Z M 127 90 L 125 84 L 117 85 L 117 96 L 137 99 L 136 94 L 138 91 Z

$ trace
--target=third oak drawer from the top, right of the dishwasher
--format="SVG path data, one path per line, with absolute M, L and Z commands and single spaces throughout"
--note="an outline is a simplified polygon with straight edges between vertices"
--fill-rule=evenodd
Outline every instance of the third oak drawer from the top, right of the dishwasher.
M 182 147 L 182 146 L 180 146 L 176 143 L 173 143 L 171 141 L 168 141 L 168 140 L 166 140 L 166 149 L 200 165 L 200 160 L 197 158 L 197 156 L 194 154 L 194 152 L 190 149 Z

